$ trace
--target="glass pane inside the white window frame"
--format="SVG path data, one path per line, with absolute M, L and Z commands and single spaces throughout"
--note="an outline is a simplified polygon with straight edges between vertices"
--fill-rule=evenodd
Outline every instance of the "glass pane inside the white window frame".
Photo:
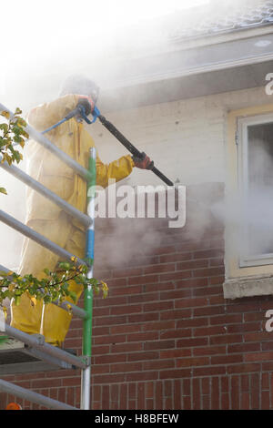
M 248 126 L 248 255 L 273 253 L 273 123 Z

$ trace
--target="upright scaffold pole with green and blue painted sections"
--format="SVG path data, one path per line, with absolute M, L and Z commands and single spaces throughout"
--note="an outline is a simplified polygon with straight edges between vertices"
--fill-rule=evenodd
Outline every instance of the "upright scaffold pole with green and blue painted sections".
M 91 225 L 86 231 L 86 258 L 92 260 L 90 269 L 87 272 L 87 278 L 93 278 L 94 266 L 94 242 L 95 242 L 95 188 L 96 188 L 96 148 L 90 148 L 88 170 L 92 178 L 87 181 L 87 215 L 92 219 Z M 91 352 L 92 352 L 92 316 L 93 316 L 93 289 L 88 286 L 85 290 L 84 309 L 88 313 L 84 320 L 83 331 L 83 356 L 88 362 L 86 369 L 82 371 L 82 392 L 81 409 L 90 408 L 90 388 L 91 388 Z

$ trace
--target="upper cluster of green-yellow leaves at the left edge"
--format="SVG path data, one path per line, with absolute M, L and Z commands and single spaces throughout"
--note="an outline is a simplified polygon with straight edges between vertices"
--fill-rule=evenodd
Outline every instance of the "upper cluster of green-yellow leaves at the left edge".
M 7 162 L 11 165 L 13 162 L 17 164 L 23 159 L 22 153 L 15 149 L 15 145 L 19 144 L 21 148 L 25 146 L 25 139 L 29 138 L 29 135 L 25 131 L 26 122 L 20 117 L 22 110 L 16 108 L 15 115 L 10 117 L 8 111 L 1 111 L 0 115 L 5 117 L 5 123 L 0 124 L 0 158 L 1 162 Z M 5 188 L 0 188 L 0 193 L 6 193 Z

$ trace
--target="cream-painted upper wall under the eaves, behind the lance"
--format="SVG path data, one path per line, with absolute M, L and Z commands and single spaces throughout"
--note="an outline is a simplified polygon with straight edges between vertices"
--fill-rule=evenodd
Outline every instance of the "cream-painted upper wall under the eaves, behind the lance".
M 106 114 L 137 148 L 154 159 L 167 177 L 185 185 L 225 180 L 225 122 L 227 111 L 268 104 L 264 87 L 197 97 Z M 89 127 L 104 162 L 126 149 L 100 123 Z M 126 181 L 157 184 L 152 173 L 137 170 Z

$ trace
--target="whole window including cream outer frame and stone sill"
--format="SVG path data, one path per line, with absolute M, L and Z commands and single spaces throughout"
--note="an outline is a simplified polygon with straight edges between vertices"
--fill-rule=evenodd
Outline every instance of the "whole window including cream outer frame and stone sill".
M 230 111 L 226 148 L 224 297 L 273 294 L 273 105 Z

